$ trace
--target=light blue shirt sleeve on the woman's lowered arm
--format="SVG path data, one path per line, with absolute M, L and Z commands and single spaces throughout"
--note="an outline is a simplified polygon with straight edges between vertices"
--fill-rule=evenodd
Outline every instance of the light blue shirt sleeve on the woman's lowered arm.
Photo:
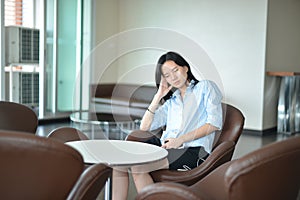
M 218 86 L 212 82 L 206 82 L 206 90 L 204 95 L 204 102 L 207 112 L 206 123 L 209 123 L 218 129 L 222 128 L 222 93 Z

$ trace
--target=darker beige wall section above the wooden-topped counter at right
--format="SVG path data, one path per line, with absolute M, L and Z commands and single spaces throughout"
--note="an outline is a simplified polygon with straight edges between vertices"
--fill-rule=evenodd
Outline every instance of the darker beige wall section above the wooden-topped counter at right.
M 300 1 L 269 0 L 267 71 L 300 71 Z

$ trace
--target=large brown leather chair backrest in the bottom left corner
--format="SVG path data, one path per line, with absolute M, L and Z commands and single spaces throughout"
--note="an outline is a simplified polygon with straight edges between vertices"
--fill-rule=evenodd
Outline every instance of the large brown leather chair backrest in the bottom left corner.
M 0 131 L 1 199 L 66 199 L 81 175 L 83 158 L 60 142 Z

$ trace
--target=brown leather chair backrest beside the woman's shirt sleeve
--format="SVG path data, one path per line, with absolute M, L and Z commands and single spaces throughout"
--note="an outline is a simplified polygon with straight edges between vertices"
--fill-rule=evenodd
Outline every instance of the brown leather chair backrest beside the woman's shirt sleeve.
M 222 108 L 223 127 L 214 148 L 224 141 L 233 141 L 236 144 L 244 127 L 245 117 L 239 109 L 226 103 L 222 103 Z

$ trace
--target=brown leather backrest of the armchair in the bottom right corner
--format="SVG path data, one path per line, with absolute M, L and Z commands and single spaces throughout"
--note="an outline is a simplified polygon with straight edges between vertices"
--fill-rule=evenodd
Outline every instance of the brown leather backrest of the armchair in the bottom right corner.
M 234 161 L 225 174 L 225 183 L 230 199 L 296 199 L 300 189 L 300 137 Z

